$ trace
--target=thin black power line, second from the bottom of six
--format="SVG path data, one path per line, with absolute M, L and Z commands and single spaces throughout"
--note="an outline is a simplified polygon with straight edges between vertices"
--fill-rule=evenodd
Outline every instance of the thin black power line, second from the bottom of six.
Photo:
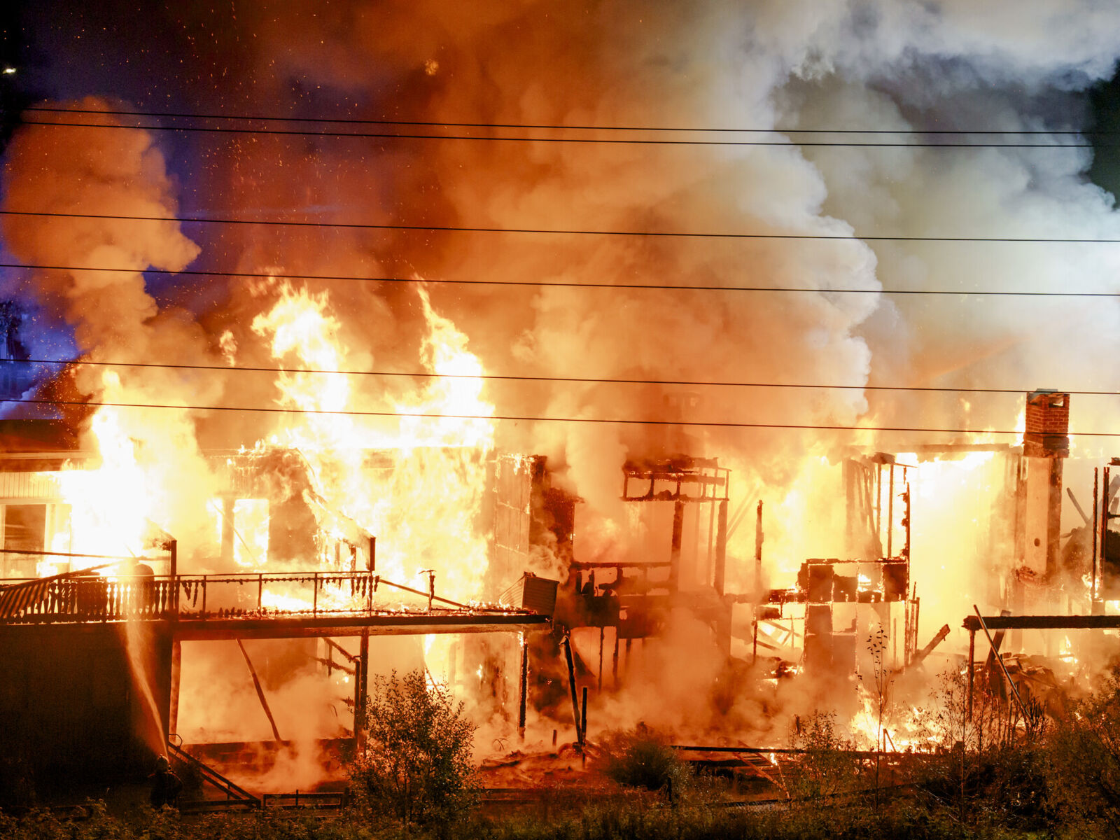
M 97 367 L 156 367 L 174 371 L 232 371 L 237 373 L 312 373 L 338 376 L 408 376 L 414 379 L 496 380 L 503 382 L 566 382 L 600 385 L 682 385 L 696 388 L 776 388 L 821 391 L 905 391 L 915 393 L 961 394 L 1018 394 L 1030 393 L 1029 388 L 934 388 L 924 385 L 836 385 L 797 382 L 700 382 L 696 380 L 654 379 L 594 379 L 588 376 L 506 376 L 501 374 L 432 373 L 430 371 L 328 371 L 315 367 L 269 367 L 249 365 L 198 365 L 158 362 L 94 362 L 84 358 L 20 358 L 25 364 L 91 365 Z M 1120 396 L 1120 391 L 1064 391 L 1077 396 Z

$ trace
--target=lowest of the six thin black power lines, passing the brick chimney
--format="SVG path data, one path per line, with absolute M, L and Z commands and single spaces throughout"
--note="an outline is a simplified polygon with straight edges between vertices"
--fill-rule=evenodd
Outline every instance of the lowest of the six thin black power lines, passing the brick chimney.
M 633 420 L 629 418 L 595 418 L 595 417 L 529 417 L 516 414 L 429 414 L 426 412 L 410 411 L 332 411 L 326 409 L 296 409 L 281 408 L 279 405 L 174 405 L 170 403 L 138 403 L 138 402 L 82 402 L 78 400 L 36 400 L 19 399 L 3 400 L 12 403 L 36 403 L 44 405 L 76 405 L 80 408 L 121 408 L 121 409 L 174 409 L 178 411 L 243 411 L 253 413 L 279 413 L 279 414 L 312 414 L 328 417 L 385 417 L 385 418 L 409 418 L 418 420 L 507 420 L 514 422 L 544 422 L 544 423 L 596 423 L 614 426 L 687 426 L 712 429 L 774 429 L 774 430 L 809 430 L 809 431 L 905 431 L 923 433 L 946 433 L 946 435 L 1015 435 L 1023 432 L 1014 429 L 961 429 L 961 428 L 930 428 L 912 426 L 842 426 L 842 424 L 815 424 L 815 423 L 747 423 L 747 422 L 718 422 L 698 420 Z M 1111 431 L 1079 431 L 1068 432 L 1070 437 L 1089 438 L 1120 438 L 1120 432 Z

